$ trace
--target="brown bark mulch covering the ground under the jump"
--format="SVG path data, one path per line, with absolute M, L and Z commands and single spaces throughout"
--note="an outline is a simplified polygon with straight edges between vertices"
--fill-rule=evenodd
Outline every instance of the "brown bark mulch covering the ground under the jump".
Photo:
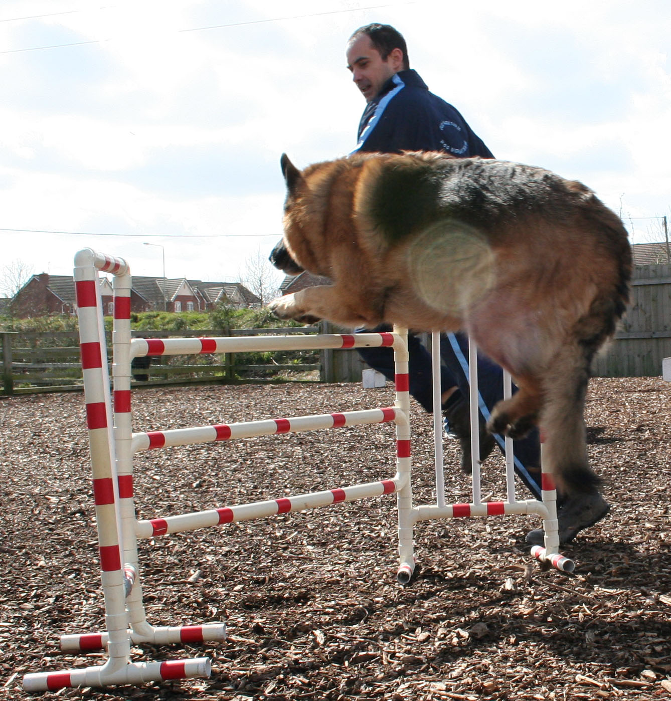
M 300 416 L 393 403 L 391 386 L 208 386 L 133 397 L 135 430 Z M 137 646 L 135 660 L 208 655 L 210 679 L 63 689 L 45 698 L 267 701 L 671 697 L 671 385 L 595 379 L 592 466 L 611 514 L 542 572 L 536 517 L 419 524 L 420 568 L 395 582 L 395 498 L 229 524 L 140 543 L 154 625 L 224 620 L 226 641 Z M 431 418 L 414 405 L 414 494 L 433 502 Z M 27 672 L 95 665 L 58 636 L 104 629 L 88 442 L 79 394 L 0 400 L 0 700 Z M 137 510 L 161 517 L 390 477 L 393 426 L 149 451 Z M 445 445 L 448 501 L 470 501 Z M 502 458 L 483 465 L 503 498 Z M 527 498 L 518 486 L 519 498 Z

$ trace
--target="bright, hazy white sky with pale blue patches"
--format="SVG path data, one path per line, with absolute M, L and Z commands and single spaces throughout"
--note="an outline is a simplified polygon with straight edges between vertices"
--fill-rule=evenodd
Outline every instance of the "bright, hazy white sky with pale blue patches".
M 671 219 L 668 0 L 3 0 L 0 278 L 244 279 L 281 236 L 280 155 L 355 147 L 344 57 L 369 22 L 497 158 L 593 189 L 632 243 Z M 150 245 L 145 245 L 149 243 Z

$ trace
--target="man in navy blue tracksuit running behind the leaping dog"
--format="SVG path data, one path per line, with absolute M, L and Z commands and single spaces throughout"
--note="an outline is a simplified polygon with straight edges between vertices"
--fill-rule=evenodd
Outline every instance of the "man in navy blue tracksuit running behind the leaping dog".
M 447 151 L 462 158 L 494 158 L 492 152 L 470 129 L 461 114 L 410 69 L 405 39 L 390 25 L 360 27 L 350 37 L 347 67 L 367 102 L 358 128 L 355 151 Z M 441 343 L 442 409 L 463 449 L 462 465 L 470 466 L 470 425 L 468 423 L 468 341 L 463 334 L 447 334 Z M 433 411 L 431 357 L 416 336 L 409 336 L 410 393 L 427 411 Z M 388 379 L 393 379 L 393 355 L 388 348 L 361 349 L 362 358 Z M 478 358 L 480 412 L 484 419 L 503 396 L 503 372 L 486 358 Z M 482 417 L 481 417 L 482 421 Z M 503 449 L 503 439 L 496 437 Z M 480 429 L 480 455 L 487 458 L 494 447 L 492 437 Z M 534 430 L 515 441 L 515 472 L 536 498 L 541 498 L 540 447 Z M 573 540 L 609 511 L 600 494 L 561 500 L 557 510 L 560 542 Z M 527 533 L 527 542 L 543 544 L 543 530 Z

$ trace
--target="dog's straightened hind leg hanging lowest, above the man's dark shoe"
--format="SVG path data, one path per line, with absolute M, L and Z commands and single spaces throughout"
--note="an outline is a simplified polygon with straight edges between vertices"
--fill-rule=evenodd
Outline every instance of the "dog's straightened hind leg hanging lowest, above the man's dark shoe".
M 562 347 L 543 374 L 543 409 L 539 426 L 543 460 L 557 489 L 593 492 L 601 482 L 588 467 L 585 437 L 585 394 L 592 353 L 574 341 Z

